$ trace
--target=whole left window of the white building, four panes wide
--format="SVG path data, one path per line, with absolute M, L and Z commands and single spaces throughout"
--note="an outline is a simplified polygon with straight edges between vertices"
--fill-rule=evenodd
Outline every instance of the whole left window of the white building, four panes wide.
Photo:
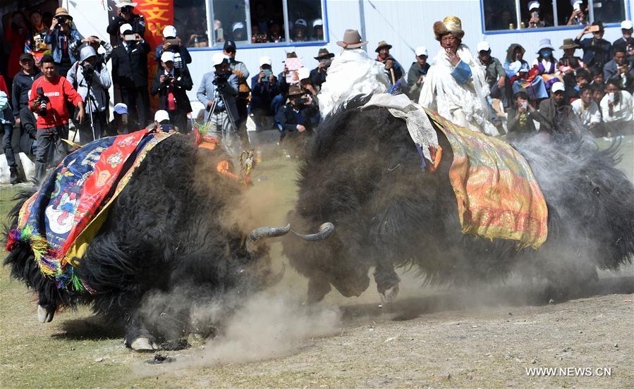
M 325 42 L 324 1 L 179 0 L 174 24 L 188 47 Z

